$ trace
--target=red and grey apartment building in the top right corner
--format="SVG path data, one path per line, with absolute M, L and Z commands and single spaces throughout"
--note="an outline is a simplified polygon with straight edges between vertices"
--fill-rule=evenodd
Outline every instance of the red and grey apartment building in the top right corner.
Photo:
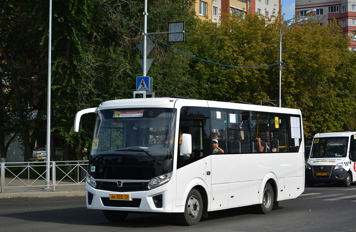
M 295 14 L 297 16 L 312 9 L 316 9 L 316 12 L 310 16 L 311 18 L 319 19 L 320 23 L 330 23 L 335 18 L 341 22 L 342 32 L 352 37 L 356 30 L 355 0 L 295 0 Z M 325 20 L 322 20 L 323 16 L 325 16 Z M 349 49 L 356 52 L 355 38 L 350 42 Z

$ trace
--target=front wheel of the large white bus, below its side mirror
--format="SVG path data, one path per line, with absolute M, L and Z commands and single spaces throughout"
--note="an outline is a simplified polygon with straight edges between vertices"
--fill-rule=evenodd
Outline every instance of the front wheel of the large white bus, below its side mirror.
M 184 212 L 177 213 L 177 219 L 184 226 L 194 226 L 203 214 L 203 198 L 197 189 L 190 190 L 185 201 Z

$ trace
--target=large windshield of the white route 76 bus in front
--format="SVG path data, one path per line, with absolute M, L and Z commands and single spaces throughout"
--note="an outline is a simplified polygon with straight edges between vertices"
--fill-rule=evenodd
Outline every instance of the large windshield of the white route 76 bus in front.
M 112 162 L 118 163 L 135 160 L 125 165 L 172 159 L 175 118 L 175 109 L 100 110 L 95 120 L 91 158 L 112 156 Z

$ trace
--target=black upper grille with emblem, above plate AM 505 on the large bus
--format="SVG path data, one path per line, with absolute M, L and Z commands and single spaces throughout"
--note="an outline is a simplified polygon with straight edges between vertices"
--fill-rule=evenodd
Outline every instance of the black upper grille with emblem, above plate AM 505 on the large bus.
M 147 191 L 148 182 L 124 182 L 122 186 L 117 186 L 116 182 L 96 181 L 96 189 L 113 192 L 134 192 Z

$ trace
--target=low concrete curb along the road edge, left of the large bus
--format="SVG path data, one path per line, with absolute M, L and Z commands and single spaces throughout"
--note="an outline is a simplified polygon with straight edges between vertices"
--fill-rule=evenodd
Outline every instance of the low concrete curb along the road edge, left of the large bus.
M 0 198 L 10 197 L 55 197 L 55 196 L 85 196 L 85 191 L 58 191 L 46 193 L 0 193 Z

